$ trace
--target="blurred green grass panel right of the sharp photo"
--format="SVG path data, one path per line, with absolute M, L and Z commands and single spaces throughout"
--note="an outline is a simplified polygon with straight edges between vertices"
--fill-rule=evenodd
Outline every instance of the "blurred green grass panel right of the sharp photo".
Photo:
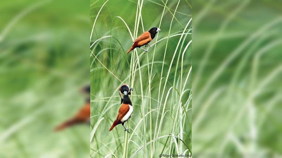
M 193 2 L 193 155 L 282 157 L 279 1 Z

